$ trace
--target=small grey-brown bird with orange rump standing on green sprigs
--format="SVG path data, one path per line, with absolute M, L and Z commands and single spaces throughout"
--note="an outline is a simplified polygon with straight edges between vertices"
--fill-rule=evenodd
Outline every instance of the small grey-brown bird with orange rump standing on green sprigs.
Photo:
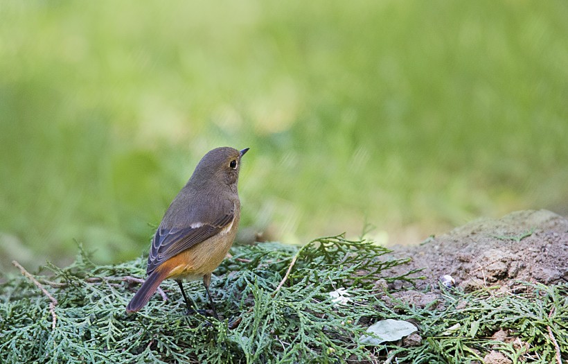
M 240 160 L 248 150 L 215 148 L 199 161 L 154 234 L 148 278 L 127 304 L 127 313 L 142 309 L 168 278 L 175 279 L 188 313 L 193 312 L 182 281 L 203 279 L 215 318 L 219 318 L 209 292 L 211 273 L 229 252 L 237 233 Z

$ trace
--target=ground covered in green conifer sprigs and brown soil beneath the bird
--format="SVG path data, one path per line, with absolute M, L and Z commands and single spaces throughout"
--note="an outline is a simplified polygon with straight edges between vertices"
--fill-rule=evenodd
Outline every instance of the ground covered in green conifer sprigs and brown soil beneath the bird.
M 567 252 L 568 220 L 544 210 L 394 252 L 344 236 L 241 245 L 211 282 L 218 321 L 185 315 L 170 280 L 127 315 L 145 258 L 98 266 L 80 249 L 66 268 L 14 263 L 22 275 L 0 284 L 0 363 L 568 363 Z M 424 267 L 425 279 L 403 275 Z M 441 275 L 458 288 L 441 289 Z M 208 307 L 199 281 L 185 286 Z M 416 332 L 361 345 L 386 319 Z

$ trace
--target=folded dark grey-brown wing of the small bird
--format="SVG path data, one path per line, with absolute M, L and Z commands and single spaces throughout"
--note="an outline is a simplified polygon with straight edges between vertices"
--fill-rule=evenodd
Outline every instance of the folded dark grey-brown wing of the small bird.
M 164 261 L 218 234 L 222 229 L 229 227 L 233 223 L 234 218 L 235 211 L 231 209 L 231 211 L 222 214 L 213 223 L 196 222 L 188 227 L 172 228 L 160 225 L 150 247 L 146 271 L 150 274 Z

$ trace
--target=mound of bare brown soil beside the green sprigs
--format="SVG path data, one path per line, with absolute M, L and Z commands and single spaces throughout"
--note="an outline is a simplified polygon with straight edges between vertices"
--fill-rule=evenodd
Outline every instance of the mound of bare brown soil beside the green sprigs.
M 411 268 L 425 268 L 420 275 L 426 279 L 417 288 L 437 287 L 444 275 L 464 291 L 482 286 L 515 291 L 522 287 L 518 281 L 568 281 L 568 219 L 547 210 L 475 220 L 418 246 L 393 250 L 397 258 L 411 257 Z

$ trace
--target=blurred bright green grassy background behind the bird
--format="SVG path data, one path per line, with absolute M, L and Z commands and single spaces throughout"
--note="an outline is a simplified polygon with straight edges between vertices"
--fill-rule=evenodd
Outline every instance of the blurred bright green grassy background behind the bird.
M 148 249 L 250 147 L 241 240 L 568 211 L 566 1 L 1 1 L 0 254 Z

